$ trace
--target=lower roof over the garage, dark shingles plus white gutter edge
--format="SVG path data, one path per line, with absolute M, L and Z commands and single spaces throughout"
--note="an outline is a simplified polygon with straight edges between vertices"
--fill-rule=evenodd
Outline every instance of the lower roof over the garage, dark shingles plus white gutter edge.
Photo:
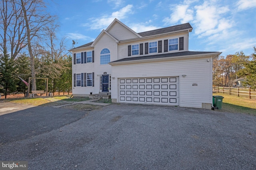
M 129 61 L 136 61 L 136 60 L 147 60 L 147 59 L 159 59 L 159 58 L 166 58 L 166 57 L 180 57 L 180 56 L 194 56 L 194 55 L 220 55 L 220 52 L 202 52 L 202 51 L 182 51 L 176 53 L 164 53 L 164 54 L 156 54 L 156 55 L 147 55 L 147 56 L 140 56 L 140 57 L 129 57 L 124 58 L 116 61 L 112 61 L 109 64 L 115 64 L 119 62 L 129 62 Z

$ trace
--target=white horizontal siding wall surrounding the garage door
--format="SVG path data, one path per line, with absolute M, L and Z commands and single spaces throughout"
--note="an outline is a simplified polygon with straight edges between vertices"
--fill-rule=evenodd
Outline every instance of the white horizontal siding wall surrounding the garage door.
M 186 75 L 182 77 L 181 75 Z M 202 107 L 202 103 L 212 103 L 211 62 L 207 59 L 127 64 L 112 66 L 112 89 L 118 89 L 117 78 L 128 77 L 179 76 L 179 105 L 182 107 Z M 197 86 L 192 86 L 196 83 Z M 118 90 L 112 90 L 112 99 L 118 99 Z

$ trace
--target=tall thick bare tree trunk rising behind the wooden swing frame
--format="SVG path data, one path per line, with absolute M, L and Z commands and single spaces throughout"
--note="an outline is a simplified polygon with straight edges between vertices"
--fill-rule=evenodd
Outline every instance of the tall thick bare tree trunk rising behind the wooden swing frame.
M 23 13 L 24 13 L 24 19 L 26 21 L 28 52 L 29 52 L 29 55 L 30 55 L 31 76 L 36 77 L 35 61 L 34 61 L 34 55 L 32 53 L 30 27 L 29 27 L 29 23 L 28 23 L 27 12 L 26 12 L 26 8 L 24 6 L 23 0 L 20 0 L 20 2 L 21 2 Z M 35 78 L 32 78 L 32 90 L 36 90 L 36 79 Z

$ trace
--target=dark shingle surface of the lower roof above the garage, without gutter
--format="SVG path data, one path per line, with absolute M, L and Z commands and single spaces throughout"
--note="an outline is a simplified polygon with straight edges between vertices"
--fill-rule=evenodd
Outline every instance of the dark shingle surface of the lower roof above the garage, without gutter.
M 110 63 L 116 63 L 116 62 L 121 62 L 121 61 L 156 59 L 156 58 L 164 58 L 164 57 L 176 57 L 176 56 L 184 56 L 184 55 L 198 55 L 198 54 L 207 54 L 207 53 L 218 53 L 218 52 L 182 51 L 182 52 L 177 52 L 177 53 L 162 53 L 162 54 L 157 54 L 157 55 L 147 55 L 147 56 L 141 56 L 141 57 L 129 57 L 129 58 L 112 61 Z

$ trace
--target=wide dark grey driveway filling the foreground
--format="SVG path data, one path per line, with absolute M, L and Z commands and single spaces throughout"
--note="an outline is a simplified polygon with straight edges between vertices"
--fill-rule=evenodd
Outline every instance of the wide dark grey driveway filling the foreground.
M 251 115 L 132 104 L 32 107 L 1 115 L 0 125 L 0 160 L 26 160 L 31 170 L 256 169 Z

